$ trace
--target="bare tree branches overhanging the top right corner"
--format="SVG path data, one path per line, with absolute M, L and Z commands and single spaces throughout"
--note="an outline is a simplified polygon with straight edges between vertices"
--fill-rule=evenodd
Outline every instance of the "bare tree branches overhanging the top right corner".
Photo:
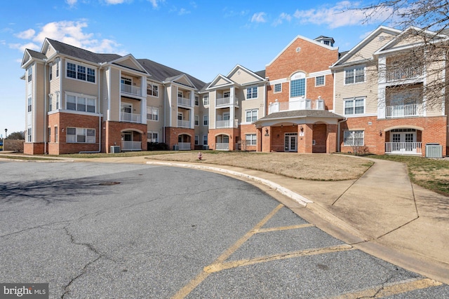
M 410 92 L 410 85 L 404 85 L 401 95 L 401 90 L 396 88 L 396 97 L 410 102 L 419 92 L 418 96 L 426 99 L 427 106 L 439 107 L 443 104 L 442 99 L 449 105 L 448 0 L 381 0 L 362 8 L 351 9 L 358 13 L 361 11 L 366 16 L 365 23 L 377 20 L 390 27 L 407 30 L 406 34 L 394 39 L 409 41 L 413 43 L 413 48 L 406 48 L 396 59 L 387 60 L 384 67 L 393 70 L 390 74 L 396 76 L 403 74 L 401 71 L 407 71 L 410 76 L 413 71 L 422 72 L 425 69 L 427 78 L 430 79 L 427 80 L 425 88 L 419 91 L 415 88 L 415 91 Z

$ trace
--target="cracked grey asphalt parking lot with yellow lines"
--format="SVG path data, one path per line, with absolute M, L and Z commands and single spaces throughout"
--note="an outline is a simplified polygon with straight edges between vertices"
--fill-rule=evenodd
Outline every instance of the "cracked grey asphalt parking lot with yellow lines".
M 49 298 L 449 298 L 253 185 L 149 165 L 0 162 L 0 277 Z

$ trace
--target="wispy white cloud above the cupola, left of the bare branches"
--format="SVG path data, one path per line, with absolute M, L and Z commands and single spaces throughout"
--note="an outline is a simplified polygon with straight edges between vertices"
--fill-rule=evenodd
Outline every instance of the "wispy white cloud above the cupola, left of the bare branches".
M 382 22 L 388 11 L 377 11 L 371 18 L 367 15 L 373 11 L 359 10 L 360 2 L 341 1 L 335 6 L 321 6 L 318 9 L 309 9 L 307 11 L 295 11 L 293 15 L 302 24 L 328 25 L 330 28 L 337 28 L 350 25 L 362 25 L 368 22 Z

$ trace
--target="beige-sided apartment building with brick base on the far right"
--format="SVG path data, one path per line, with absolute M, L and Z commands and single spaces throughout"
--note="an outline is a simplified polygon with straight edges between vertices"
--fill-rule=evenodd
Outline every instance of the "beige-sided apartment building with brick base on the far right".
M 441 60 L 429 64 L 408 60 L 404 55 L 410 55 L 410 49 L 427 55 L 417 32 L 422 34 L 417 28 L 378 27 L 330 67 L 335 77 L 334 112 L 345 119 L 339 131 L 340 151 L 425 156 L 425 145 L 437 144 L 446 155 L 447 91 L 433 99 L 438 104 L 429 104 L 424 90 L 445 80 L 445 67 L 438 64 L 447 57 L 442 53 Z M 424 34 L 435 42 L 448 39 Z

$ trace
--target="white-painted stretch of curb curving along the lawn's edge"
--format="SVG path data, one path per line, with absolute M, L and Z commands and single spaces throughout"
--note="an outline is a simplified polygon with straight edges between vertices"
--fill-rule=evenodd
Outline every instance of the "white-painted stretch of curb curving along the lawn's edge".
M 269 181 L 267 179 L 260 179 L 257 176 L 251 176 L 249 174 L 243 174 L 241 172 L 234 172 L 234 170 L 229 169 L 223 169 L 219 167 L 210 167 L 210 166 L 203 166 L 203 165 L 192 165 L 192 164 L 186 164 L 186 163 L 173 163 L 173 162 L 147 162 L 148 165 L 165 165 L 165 166 L 174 166 L 174 167 L 185 167 L 185 168 L 192 168 L 192 169 L 201 169 L 201 170 L 211 170 L 214 172 L 222 172 L 223 174 L 230 174 L 232 176 L 238 176 L 241 178 L 249 179 L 251 181 L 255 181 L 257 183 L 262 183 L 264 186 L 268 186 L 269 188 L 272 188 L 273 190 L 281 193 L 282 195 L 286 195 L 290 197 L 292 200 L 297 202 L 298 204 L 301 204 L 303 207 L 307 207 L 307 204 L 313 203 L 311 200 L 307 199 L 306 197 L 299 195 L 292 190 L 285 188 L 277 183 L 273 183 L 272 181 Z

